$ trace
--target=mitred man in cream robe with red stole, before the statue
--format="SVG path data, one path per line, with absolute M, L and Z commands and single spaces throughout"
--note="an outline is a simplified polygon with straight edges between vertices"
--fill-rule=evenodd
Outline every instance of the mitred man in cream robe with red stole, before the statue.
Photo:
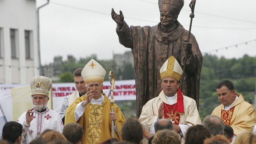
M 179 89 L 183 71 L 178 61 L 169 57 L 160 68 L 161 92 L 158 97 L 149 100 L 142 108 L 139 121 L 154 135 L 154 123 L 159 119 L 173 122 L 173 130 L 181 137 L 193 125 L 201 124 L 196 102 L 184 96 Z M 151 136 L 146 137 L 148 140 Z

